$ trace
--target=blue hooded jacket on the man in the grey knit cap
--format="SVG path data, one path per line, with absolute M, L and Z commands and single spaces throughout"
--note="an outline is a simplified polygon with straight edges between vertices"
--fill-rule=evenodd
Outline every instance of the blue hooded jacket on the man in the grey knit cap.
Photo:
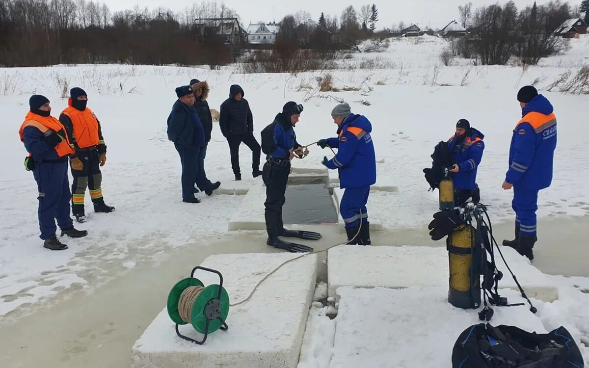
M 369 187 L 376 183 L 376 158 L 370 132 L 372 124 L 366 117 L 350 114 L 342 123 L 339 137 L 327 139 L 330 147 L 338 149 L 326 165 L 339 170 L 340 188 Z

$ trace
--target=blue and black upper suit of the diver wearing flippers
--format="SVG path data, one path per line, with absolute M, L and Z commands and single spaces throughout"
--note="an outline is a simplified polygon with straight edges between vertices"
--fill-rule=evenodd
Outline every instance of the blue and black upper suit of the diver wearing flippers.
M 291 148 L 299 148 L 294 128 L 282 112 L 276 115 L 272 124 L 262 130 L 262 151 L 277 158 L 289 158 Z

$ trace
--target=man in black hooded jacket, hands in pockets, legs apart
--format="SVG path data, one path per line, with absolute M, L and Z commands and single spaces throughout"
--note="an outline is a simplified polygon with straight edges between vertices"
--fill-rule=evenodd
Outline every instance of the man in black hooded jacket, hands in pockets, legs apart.
M 239 145 L 244 142 L 252 150 L 252 175 L 254 178 L 262 175 L 260 171 L 260 144 L 254 137 L 254 122 L 252 110 L 247 100 L 243 98 L 243 89 L 239 85 L 231 85 L 229 98 L 221 104 L 219 125 L 221 133 L 229 142 L 231 152 L 231 168 L 235 180 L 241 180 L 239 168 Z

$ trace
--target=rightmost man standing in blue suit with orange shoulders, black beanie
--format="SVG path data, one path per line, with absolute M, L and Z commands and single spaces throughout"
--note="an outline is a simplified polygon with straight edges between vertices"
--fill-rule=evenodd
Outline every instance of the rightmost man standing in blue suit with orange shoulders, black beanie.
M 522 108 L 522 119 L 513 131 L 509 170 L 502 185 L 504 190 L 514 189 L 515 239 L 504 240 L 503 245 L 515 248 L 519 254 L 533 260 L 532 248 L 538 240 L 538 191 L 552 183 L 557 122 L 550 101 L 531 85 L 519 89 L 517 99 Z

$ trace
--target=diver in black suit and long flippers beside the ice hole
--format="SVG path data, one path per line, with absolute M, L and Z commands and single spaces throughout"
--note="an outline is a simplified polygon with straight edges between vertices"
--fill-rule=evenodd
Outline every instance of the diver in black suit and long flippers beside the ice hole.
M 262 170 L 262 179 L 266 184 L 266 244 L 291 252 L 312 252 L 313 248 L 284 241 L 279 238 L 280 236 L 309 240 L 321 238 L 319 233 L 313 231 L 286 230 L 282 222 L 282 206 L 286 201 L 284 193 L 289 180 L 290 160 L 294 155 L 303 157 L 302 147 L 294 135 L 294 125 L 299 121 L 302 111 L 303 105 L 297 105 L 293 101 L 286 102 L 282 112 L 262 131 L 262 151 L 267 155 Z

